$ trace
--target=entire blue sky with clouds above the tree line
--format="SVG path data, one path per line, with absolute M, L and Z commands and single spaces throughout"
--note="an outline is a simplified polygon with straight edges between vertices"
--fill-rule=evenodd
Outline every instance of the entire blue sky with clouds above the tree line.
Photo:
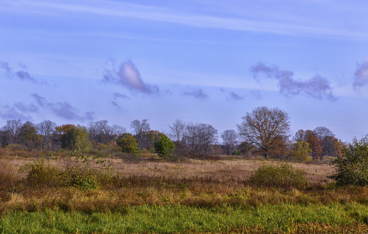
M 181 118 L 368 134 L 368 1 L 1 0 L 0 127 Z

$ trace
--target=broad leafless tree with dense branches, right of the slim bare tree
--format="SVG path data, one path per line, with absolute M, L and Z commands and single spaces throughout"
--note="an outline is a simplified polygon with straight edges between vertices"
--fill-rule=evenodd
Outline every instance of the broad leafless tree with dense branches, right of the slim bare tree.
M 213 145 L 217 143 L 217 130 L 205 123 L 188 123 L 185 137 L 190 157 L 212 157 L 216 154 Z

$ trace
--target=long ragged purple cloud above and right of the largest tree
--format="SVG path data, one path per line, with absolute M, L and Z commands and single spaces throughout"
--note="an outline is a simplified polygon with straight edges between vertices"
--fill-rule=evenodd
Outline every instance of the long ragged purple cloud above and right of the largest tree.
M 268 78 L 278 80 L 279 82 L 277 85 L 280 93 L 287 97 L 302 94 L 317 99 L 326 98 L 330 101 L 337 100 L 332 93 L 330 82 L 318 74 L 305 81 L 295 80 L 293 79 L 294 73 L 292 71 L 281 70 L 279 66 L 276 65 L 266 66 L 262 62 L 258 62 L 251 66 L 250 71 L 257 80 L 259 80 L 259 73 L 263 73 Z

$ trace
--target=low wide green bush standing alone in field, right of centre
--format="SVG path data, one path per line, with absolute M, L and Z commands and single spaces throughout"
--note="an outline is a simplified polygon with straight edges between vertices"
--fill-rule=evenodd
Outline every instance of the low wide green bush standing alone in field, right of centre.
M 294 169 L 288 163 L 280 166 L 265 164 L 255 170 L 249 181 L 256 186 L 268 188 L 305 188 L 308 185 L 305 174 L 303 170 Z

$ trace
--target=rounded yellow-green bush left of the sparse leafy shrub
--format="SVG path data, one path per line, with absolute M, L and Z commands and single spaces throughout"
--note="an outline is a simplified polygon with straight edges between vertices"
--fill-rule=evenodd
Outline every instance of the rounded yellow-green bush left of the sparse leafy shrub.
M 26 174 L 26 181 L 31 186 L 60 186 L 64 184 L 61 170 L 49 161 L 35 160 L 20 167 Z

